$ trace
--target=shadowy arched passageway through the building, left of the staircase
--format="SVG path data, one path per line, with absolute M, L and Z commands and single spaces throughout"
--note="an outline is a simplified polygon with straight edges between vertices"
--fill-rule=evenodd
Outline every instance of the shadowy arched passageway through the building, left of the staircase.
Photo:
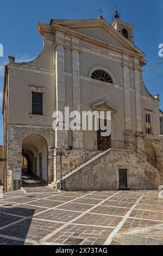
M 47 143 L 40 135 L 28 135 L 22 142 L 22 171 L 47 182 Z

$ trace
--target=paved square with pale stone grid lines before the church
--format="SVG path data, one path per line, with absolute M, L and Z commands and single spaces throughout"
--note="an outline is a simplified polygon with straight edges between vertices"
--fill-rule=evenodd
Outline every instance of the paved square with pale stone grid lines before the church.
M 159 191 L 9 192 L 0 245 L 163 245 L 162 209 Z

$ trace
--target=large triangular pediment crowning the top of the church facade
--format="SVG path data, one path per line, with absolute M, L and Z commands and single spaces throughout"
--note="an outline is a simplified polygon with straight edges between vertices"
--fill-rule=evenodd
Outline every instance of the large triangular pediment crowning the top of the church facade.
M 129 40 L 124 38 L 119 32 L 116 31 L 107 21 L 101 20 L 52 20 L 54 26 L 59 25 L 64 28 L 70 29 L 74 32 L 90 36 L 107 44 L 127 50 L 133 53 L 140 54 L 142 57 L 145 54 L 132 44 Z

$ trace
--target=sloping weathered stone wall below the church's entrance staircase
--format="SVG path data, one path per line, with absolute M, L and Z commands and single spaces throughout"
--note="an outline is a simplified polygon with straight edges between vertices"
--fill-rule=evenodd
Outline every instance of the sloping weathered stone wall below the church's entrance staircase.
M 119 169 L 127 169 L 131 190 L 158 189 L 163 173 L 134 151 L 110 150 L 78 172 L 68 176 L 64 190 L 116 190 L 119 188 Z

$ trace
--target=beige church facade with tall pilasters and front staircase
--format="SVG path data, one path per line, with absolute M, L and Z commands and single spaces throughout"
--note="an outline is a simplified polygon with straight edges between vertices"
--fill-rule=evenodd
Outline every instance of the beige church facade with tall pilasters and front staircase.
M 163 182 L 159 95 L 142 78 L 147 61 L 134 45 L 134 27 L 120 19 L 39 23 L 43 50 L 28 63 L 9 57 L 4 80 L 4 163 L 7 190 L 15 168 L 59 186 L 61 148 L 65 190 L 158 189 Z M 145 69 L 145 68 L 144 68 Z M 65 107 L 111 112 L 111 135 L 52 128 Z M 62 124 L 64 127 L 66 124 Z M 55 146 L 52 155 L 51 147 Z M 67 152 L 67 146 L 72 151 Z

